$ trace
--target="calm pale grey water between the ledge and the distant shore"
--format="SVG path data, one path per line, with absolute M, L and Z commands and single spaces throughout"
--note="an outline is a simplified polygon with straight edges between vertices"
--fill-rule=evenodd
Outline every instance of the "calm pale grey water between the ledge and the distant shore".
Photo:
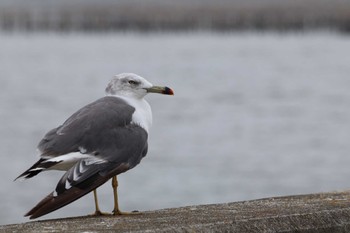
M 123 210 L 153 210 L 350 187 L 350 38 L 314 34 L 0 35 L 0 224 L 62 176 L 13 179 L 51 128 L 135 72 L 148 96 L 150 150 L 120 176 Z M 112 209 L 110 183 L 99 189 Z M 46 218 L 93 211 L 89 194 Z

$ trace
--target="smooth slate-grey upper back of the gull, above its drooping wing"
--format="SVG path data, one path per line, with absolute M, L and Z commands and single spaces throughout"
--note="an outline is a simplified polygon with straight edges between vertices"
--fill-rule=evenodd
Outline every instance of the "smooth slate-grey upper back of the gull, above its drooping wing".
M 108 129 L 130 124 L 135 109 L 116 97 L 103 97 L 78 110 L 61 126 L 50 130 L 39 142 L 42 156 L 94 151 L 96 137 Z

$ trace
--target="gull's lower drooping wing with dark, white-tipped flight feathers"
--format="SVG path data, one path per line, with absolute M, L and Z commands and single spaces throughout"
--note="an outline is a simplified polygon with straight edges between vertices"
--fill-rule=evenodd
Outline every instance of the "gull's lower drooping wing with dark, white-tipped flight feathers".
M 110 134 L 119 140 L 107 140 L 104 144 L 106 148 L 98 149 L 98 157 L 81 159 L 76 163 L 62 176 L 55 191 L 25 216 L 34 219 L 77 200 L 111 177 L 135 167 L 146 155 L 147 133 L 143 128 L 129 125 L 112 130 Z

